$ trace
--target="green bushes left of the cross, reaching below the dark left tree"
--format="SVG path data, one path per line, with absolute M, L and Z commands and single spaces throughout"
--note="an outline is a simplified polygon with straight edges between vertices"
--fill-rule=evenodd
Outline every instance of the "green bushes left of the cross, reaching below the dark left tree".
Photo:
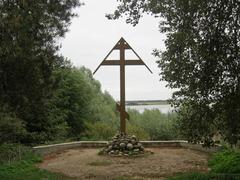
M 42 112 L 48 116 L 47 121 L 38 122 L 40 132 L 25 127 L 25 124 L 29 125 L 27 122 L 3 109 L 0 111 L 1 142 L 37 144 L 79 140 L 83 136 L 102 140 L 117 132 L 119 115 L 115 101 L 108 92 L 101 91 L 100 83 L 89 69 L 75 68 L 65 62 L 65 67 L 56 69 L 52 78 L 57 83 Z M 44 117 L 43 114 L 37 115 Z

